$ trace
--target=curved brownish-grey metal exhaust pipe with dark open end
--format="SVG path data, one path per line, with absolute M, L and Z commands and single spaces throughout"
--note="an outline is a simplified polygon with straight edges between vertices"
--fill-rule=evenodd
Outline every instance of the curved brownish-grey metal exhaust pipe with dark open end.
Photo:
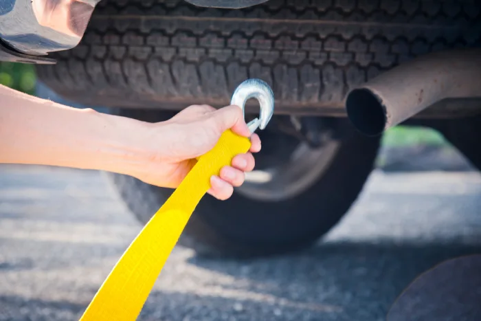
M 386 71 L 350 91 L 346 111 L 373 136 L 445 98 L 481 98 L 481 49 L 427 54 Z

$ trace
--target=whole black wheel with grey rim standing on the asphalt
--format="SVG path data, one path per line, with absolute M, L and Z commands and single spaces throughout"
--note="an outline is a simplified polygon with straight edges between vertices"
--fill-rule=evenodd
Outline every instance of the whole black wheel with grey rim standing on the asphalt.
M 149 113 L 155 112 L 120 114 L 153 120 Z M 276 117 L 271 122 L 259 132 L 263 147 L 256 155 L 256 170 L 246 175 L 245 184 L 227 201 L 205 195 L 179 240 L 181 245 L 203 255 L 286 252 L 313 244 L 350 208 L 372 170 L 379 137 L 364 137 L 347 120 L 334 119 L 335 135 L 319 148 L 309 148 L 294 137 L 269 132 L 276 128 Z M 107 175 L 142 223 L 172 192 L 133 177 Z

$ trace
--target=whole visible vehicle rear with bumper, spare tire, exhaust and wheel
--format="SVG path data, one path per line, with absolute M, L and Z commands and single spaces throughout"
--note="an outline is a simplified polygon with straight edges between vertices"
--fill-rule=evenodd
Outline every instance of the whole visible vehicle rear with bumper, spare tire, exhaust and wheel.
M 189 104 L 223 107 L 247 78 L 272 87 L 256 170 L 229 201 L 205 197 L 181 238 L 198 252 L 313 244 L 359 195 L 379 134 L 401 122 L 432 126 L 481 168 L 481 1 L 34 3 L 0 9 L 0 57 L 38 63 L 69 100 L 157 122 Z M 171 192 L 109 179 L 142 222 Z

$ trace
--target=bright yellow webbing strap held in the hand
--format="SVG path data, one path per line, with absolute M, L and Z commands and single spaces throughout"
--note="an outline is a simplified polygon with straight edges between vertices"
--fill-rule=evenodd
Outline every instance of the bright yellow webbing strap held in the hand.
M 247 153 L 248 138 L 225 131 L 133 240 L 93 297 L 80 321 L 132 321 L 137 318 L 155 280 L 195 207 L 235 155 Z

